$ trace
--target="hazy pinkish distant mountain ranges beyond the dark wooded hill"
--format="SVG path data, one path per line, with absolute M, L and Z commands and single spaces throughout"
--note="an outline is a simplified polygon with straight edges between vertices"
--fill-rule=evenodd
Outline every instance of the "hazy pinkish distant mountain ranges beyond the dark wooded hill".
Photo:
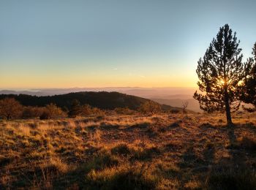
M 181 107 L 182 102 L 189 102 L 188 109 L 195 112 L 202 112 L 198 102 L 192 98 L 195 88 L 140 88 L 140 87 L 106 87 L 106 88 L 43 88 L 26 89 L 22 91 L 2 90 L 0 94 L 27 94 L 31 96 L 54 96 L 69 94 L 79 91 L 106 91 L 119 92 L 139 96 L 144 99 L 151 99 L 159 104 L 167 104 L 171 107 Z

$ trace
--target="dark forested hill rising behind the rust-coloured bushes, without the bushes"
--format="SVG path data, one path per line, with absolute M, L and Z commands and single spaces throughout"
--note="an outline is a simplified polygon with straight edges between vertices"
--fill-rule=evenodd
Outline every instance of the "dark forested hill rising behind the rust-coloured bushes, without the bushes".
M 121 94 L 118 92 L 75 92 L 69 94 L 59 94 L 54 96 L 35 96 L 28 94 L 1 94 L 0 99 L 13 97 L 25 106 L 45 106 L 46 104 L 54 103 L 59 107 L 70 108 L 73 99 L 77 99 L 80 104 L 89 104 L 92 107 L 101 109 L 113 110 L 116 107 L 128 107 L 131 110 L 136 110 L 141 104 L 149 99 L 144 99 L 138 96 Z M 163 105 L 163 110 L 181 110 L 179 107 L 171 107 Z

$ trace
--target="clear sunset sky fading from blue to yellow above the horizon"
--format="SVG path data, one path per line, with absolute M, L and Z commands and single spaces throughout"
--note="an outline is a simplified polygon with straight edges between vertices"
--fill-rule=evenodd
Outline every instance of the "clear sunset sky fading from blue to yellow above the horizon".
M 256 42 L 256 1 L 0 0 L 0 88 L 195 87 L 220 26 Z

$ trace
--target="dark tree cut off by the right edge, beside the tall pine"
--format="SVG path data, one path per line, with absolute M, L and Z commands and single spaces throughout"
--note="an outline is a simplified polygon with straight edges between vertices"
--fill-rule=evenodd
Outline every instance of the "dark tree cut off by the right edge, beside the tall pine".
M 244 109 L 248 111 L 256 110 L 256 42 L 252 48 L 252 55 L 254 58 L 249 58 L 247 61 L 254 61 L 254 64 L 249 72 L 249 76 L 244 79 L 241 91 L 241 101 L 254 105 L 254 108 L 244 107 Z

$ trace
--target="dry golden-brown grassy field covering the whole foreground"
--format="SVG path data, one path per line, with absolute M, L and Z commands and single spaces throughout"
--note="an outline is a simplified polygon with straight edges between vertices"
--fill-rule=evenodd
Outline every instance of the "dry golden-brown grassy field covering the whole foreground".
M 254 189 L 255 113 L 1 121 L 0 189 Z

